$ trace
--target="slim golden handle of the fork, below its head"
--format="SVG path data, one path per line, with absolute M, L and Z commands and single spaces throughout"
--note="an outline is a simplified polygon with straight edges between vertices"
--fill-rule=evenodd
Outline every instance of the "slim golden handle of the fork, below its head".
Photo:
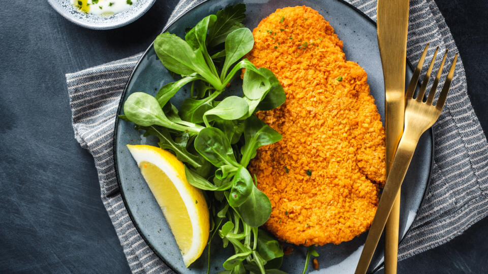
M 400 139 L 395 157 L 391 163 L 390 172 L 388 174 L 388 178 L 386 179 L 383 193 L 381 194 L 375 218 L 371 224 L 368 237 L 366 238 L 364 248 L 361 252 L 361 257 L 359 258 L 359 262 L 356 267 L 356 274 L 366 273 L 368 270 L 368 266 L 371 262 L 371 258 L 373 257 L 376 246 L 378 245 L 381 233 L 385 228 L 386 220 L 390 214 L 393 202 L 395 201 L 396 195 L 400 191 L 403 179 L 405 178 L 408 166 L 410 165 L 413 153 L 415 152 L 418 139 L 420 138 L 420 136 L 417 136 L 417 134 L 409 132 L 408 128 L 406 129 L 407 130 L 404 132 L 402 139 Z

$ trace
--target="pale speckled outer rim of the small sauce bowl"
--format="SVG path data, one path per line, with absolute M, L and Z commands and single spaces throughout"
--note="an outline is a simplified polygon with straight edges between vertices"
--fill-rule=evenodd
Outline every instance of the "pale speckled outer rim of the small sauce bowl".
M 143 8 L 139 9 L 137 12 L 134 12 L 132 16 L 127 17 L 125 20 L 117 21 L 115 23 L 108 23 L 103 25 L 98 25 L 97 23 L 89 23 L 85 22 L 82 19 L 70 16 L 65 9 L 61 8 L 57 1 L 55 0 L 47 0 L 49 5 L 61 16 L 68 19 L 68 21 L 75 23 L 76 25 L 89 28 L 89 29 L 113 29 L 121 26 L 125 26 L 134 22 L 135 20 L 139 19 L 143 14 L 145 14 L 151 7 L 153 7 L 156 0 L 147 0 L 147 4 L 142 6 Z M 105 20 L 104 22 L 110 22 L 109 20 Z

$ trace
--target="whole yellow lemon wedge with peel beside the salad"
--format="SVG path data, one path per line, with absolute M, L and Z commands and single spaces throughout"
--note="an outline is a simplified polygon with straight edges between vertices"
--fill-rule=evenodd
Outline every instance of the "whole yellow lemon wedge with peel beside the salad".
M 190 185 L 185 166 L 170 152 L 147 145 L 127 145 L 173 232 L 188 267 L 208 241 L 209 213 L 200 189 Z

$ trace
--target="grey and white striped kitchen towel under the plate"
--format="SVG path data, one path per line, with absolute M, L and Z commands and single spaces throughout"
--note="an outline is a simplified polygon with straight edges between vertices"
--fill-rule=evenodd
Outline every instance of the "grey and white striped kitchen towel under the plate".
M 202 0 L 181 1 L 169 23 Z M 376 1 L 348 1 L 373 20 Z M 426 43 L 457 51 L 434 0 L 410 3 L 407 57 L 417 63 Z M 428 55 L 432 57 L 435 47 Z M 121 93 L 141 54 L 67 74 L 75 138 L 94 156 L 105 208 L 133 272 L 171 272 L 147 246 L 120 196 L 113 163 L 113 130 Z M 452 55 L 448 57 L 451 63 Z M 435 63 L 439 67 L 440 60 Z M 443 79 L 445 78 L 443 75 Z M 443 80 L 441 80 L 443 82 Z M 488 213 L 488 144 L 467 95 L 458 59 L 444 111 L 434 125 L 435 157 L 425 200 L 400 246 L 399 259 L 439 246 Z

